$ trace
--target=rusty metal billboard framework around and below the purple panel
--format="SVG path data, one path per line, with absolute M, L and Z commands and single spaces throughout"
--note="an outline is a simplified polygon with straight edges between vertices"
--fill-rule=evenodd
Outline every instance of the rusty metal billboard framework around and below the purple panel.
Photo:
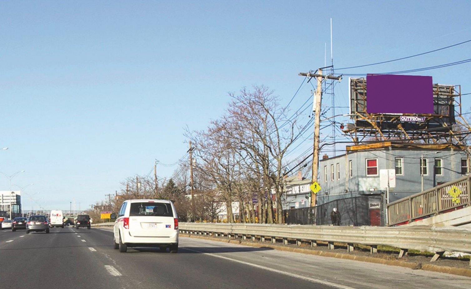
M 399 94 L 407 88 L 396 83 L 388 89 Z M 349 108 L 354 123 L 348 124 L 343 132 L 356 145 L 369 137 L 376 141 L 406 140 L 411 143 L 448 142 L 463 145 L 466 136 L 459 134 L 460 128 L 457 126 L 471 129 L 461 114 L 459 85 L 433 84 L 433 113 L 368 113 L 366 101 L 366 79 L 350 78 Z

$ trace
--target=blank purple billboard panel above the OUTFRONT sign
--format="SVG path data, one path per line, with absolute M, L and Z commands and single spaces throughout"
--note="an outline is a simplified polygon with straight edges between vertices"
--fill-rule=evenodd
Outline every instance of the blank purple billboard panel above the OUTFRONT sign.
M 367 74 L 366 112 L 433 113 L 432 77 Z

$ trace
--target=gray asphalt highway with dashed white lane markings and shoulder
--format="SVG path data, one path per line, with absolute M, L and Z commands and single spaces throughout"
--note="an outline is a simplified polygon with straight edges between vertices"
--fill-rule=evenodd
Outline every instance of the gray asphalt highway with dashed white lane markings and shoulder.
M 65 227 L 0 231 L 0 288 L 471 288 L 471 278 L 193 238 L 178 254 L 120 253 L 110 230 Z

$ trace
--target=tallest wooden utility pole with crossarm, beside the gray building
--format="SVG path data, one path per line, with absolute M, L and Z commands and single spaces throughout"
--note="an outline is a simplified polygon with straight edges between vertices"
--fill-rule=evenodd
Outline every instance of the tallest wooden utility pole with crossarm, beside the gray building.
M 330 66 L 328 66 L 330 67 Z M 317 182 L 317 173 L 318 173 L 318 166 L 319 166 L 319 127 L 320 127 L 320 120 L 321 120 L 321 100 L 322 100 L 322 80 L 323 79 L 333 79 L 333 80 L 341 80 L 341 76 L 332 76 L 332 75 L 322 75 L 322 69 L 328 68 L 323 67 L 317 69 L 316 73 L 303 73 L 300 72 L 299 75 L 306 76 L 309 78 L 316 77 L 317 78 L 317 89 L 314 98 L 314 149 L 312 155 L 312 178 L 311 182 Z M 316 206 L 316 193 L 311 191 L 311 207 Z

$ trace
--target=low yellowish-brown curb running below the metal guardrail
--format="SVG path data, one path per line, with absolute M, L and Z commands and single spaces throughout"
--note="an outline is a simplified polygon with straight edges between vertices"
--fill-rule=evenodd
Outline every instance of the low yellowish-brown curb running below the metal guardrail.
M 282 247 L 282 246 L 276 246 L 272 244 L 258 244 L 258 243 L 252 243 L 252 242 L 247 242 L 247 241 L 239 241 L 235 239 L 224 240 L 224 239 L 219 239 L 219 238 L 214 238 L 214 237 L 190 235 L 190 234 L 184 234 L 184 233 L 180 233 L 179 236 L 187 237 L 187 238 L 198 238 L 198 239 L 204 239 L 204 240 L 218 241 L 218 242 L 231 243 L 231 244 L 239 244 L 239 245 L 244 245 L 244 246 L 249 246 L 249 247 L 271 248 L 271 249 L 275 249 L 279 251 L 317 255 L 317 256 L 322 256 L 322 257 L 333 257 L 333 258 L 354 260 L 354 261 L 360 261 L 360 262 L 399 266 L 399 267 L 405 267 L 405 268 L 410 268 L 414 270 L 421 269 L 425 271 L 433 271 L 433 272 L 439 272 L 439 273 L 448 273 L 448 274 L 453 274 L 453 275 L 471 277 L 471 269 L 464 269 L 464 268 L 438 266 L 438 265 L 432 265 L 432 264 L 422 264 L 422 263 L 405 262 L 405 261 L 398 261 L 398 260 L 386 260 L 386 259 L 375 258 L 375 257 L 354 256 L 354 255 L 343 254 L 343 253 L 334 253 L 334 252 L 309 250 L 309 249 L 302 249 L 302 248 L 292 248 L 292 247 Z

